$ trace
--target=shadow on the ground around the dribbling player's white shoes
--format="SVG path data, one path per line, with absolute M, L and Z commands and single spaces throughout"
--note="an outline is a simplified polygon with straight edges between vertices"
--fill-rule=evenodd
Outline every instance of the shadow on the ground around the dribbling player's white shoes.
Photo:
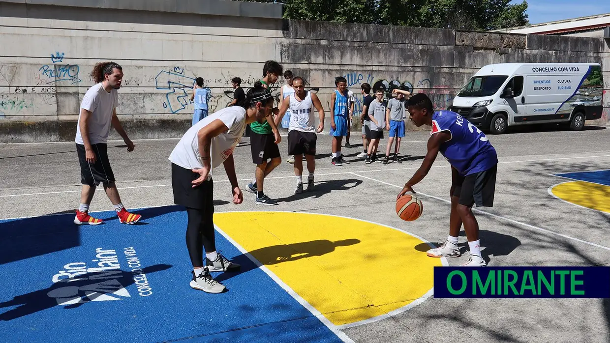
M 459 236 L 466 236 L 464 229 L 460 231 Z M 479 239 L 483 242 L 481 246 L 484 247 L 484 249 L 482 249 L 481 252 L 483 252 L 484 257 L 489 255 L 508 256 L 509 253 L 521 245 L 521 241 L 513 236 L 503 235 L 502 233 L 489 230 L 479 230 Z M 437 243 L 434 244 L 434 247 L 440 247 L 440 245 L 440 243 Z M 462 253 L 464 253 L 465 250 L 468 250 L 468 242 L 461 242 L 458 246 Z M 415 246 L 415 250 L 420 252 L 426 252 L 429 249 L 432 248 L 426 243 L 417 244 L 417 246 Z

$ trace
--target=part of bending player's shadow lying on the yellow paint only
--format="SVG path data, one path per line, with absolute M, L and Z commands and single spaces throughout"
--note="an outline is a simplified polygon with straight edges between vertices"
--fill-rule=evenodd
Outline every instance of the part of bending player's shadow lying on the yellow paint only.
M 278 264 L 288 261 L 296 261 L 301 258 L 322 256 L 334 252 L 336 247 L 346 247 L 358 244 L 359 239 L 342 239 L 340 241 L 329 241 L 328 239 L 317 239 L 309 242 L 291 244 L 278 244 L 275 246 L 255 249 L 249 252 L 256 260 L 265 265 Z

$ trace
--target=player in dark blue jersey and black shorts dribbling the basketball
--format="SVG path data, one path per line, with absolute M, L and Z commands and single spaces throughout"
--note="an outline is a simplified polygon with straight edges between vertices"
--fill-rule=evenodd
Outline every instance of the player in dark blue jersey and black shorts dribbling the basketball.
M 394 90 L 398 93 L 400 90 Z M 428 174 L 439 152 L 451 164 L 451 214 L 449 236 L 442 246 L 428 250 L 431 257 L 458 257 L 458 235 L 462 223 L 470 247 L 470 259 L 462 266 L 486 266 L 481 255 L 479 224 L 472 206 L 492 207 L 498 155 L 487 137 L 464 117 L 452 111 L 433 111 L 432 101 L 418 93 L 407 101 L 407 109 L 415 126 L 432 127 L 428 153 L 422 166 L 398 194 L 413 191 L 413 186 Z M 398 199 L 398 198 L 397 198 Z

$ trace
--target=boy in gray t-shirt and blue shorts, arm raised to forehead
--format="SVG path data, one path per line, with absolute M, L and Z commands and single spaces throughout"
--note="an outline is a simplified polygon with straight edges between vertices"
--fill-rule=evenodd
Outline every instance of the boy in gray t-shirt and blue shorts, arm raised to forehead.
M 406 90 L 406 87 L 401 86 L 398 90 L 394 90 L 393 94 L 396 94 L 396 97 L 387 102 L 386 120 L 389 123 L 387 125 L 389 138 L 386 146 L 386 158 L 384 158 L 383 164 L 388 164 L 390 161 L 390 149 L 392 149 L 394 137 L 398 138 L 394 149 L 394 161 L 396 163 L 402 163 L 400 159 L 398 159 L 398 150 L 400 150 L 400 140 L 404 137 L 405 133 L 404 119 L 407 119 L 404 111 L 404 102 L 406 97 L 410 96 L 411 93 Z

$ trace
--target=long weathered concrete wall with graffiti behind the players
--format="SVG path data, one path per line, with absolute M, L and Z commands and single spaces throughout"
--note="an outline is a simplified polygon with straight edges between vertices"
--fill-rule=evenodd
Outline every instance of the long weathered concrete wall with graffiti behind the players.
M 73 140 L 89 73 L 102 60 L 123 66 L 118 112 L 132 138 L 181 135 L 195 77 L 212 91 L 210 110 L 219 110 L 231 102 L 231 78 L 253 85 L 268 59 L 303 76 L 326 110 L 336 76 L 358 95 L 357 111 L 365 82 L 402 83 L 446 108 L 489 63 L 601 62 L 610 88 L 610 49 L 597 38 L 287 22 L 281 5 L 223 0 L 50 3 L 0 0 L 2 142 Z M 282 84 L 273 88 L 278 97 Z M 600 123 L 608 122 L 609 98 Z

